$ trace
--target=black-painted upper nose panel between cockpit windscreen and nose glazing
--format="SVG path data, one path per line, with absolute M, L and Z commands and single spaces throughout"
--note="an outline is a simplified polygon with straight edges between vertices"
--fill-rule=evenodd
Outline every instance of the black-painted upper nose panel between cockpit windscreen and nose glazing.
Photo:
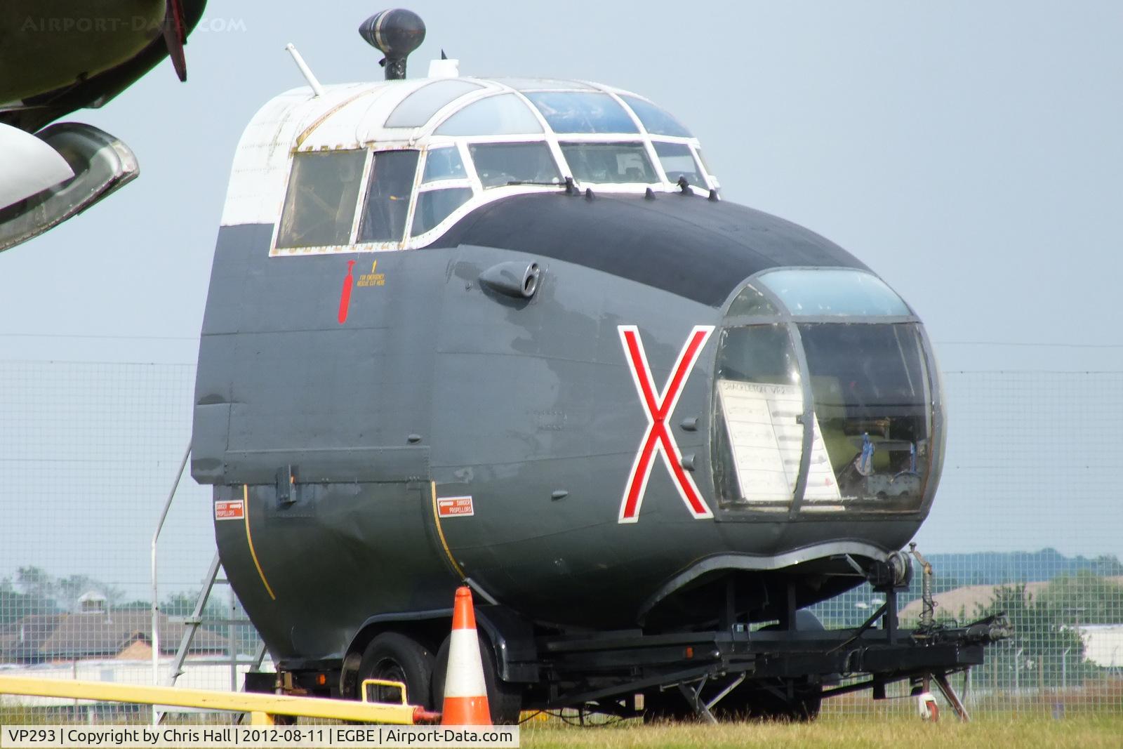
M 778 266 L 866 268 L 834 243 L 761 211 L 697 195 L 533 194 L 484 205 L 431 247 L 478 245 L 554 257 L 718 307 Z

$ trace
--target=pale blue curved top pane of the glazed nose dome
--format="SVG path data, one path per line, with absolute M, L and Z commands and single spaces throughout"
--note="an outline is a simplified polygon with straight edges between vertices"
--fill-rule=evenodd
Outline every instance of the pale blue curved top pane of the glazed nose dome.
M 795 316 L 912 314 L 896 292 L 877 276 L 851 268 L 784 268 L 760 275 Z

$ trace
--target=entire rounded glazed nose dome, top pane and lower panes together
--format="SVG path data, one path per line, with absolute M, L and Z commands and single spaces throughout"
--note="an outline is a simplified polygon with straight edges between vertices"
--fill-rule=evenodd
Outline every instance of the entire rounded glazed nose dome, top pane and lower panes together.
M 920 321 L 880 278 L 765 272 L 715 335 L 723 519 L 926 511 L 942 460 L 939 375 Z

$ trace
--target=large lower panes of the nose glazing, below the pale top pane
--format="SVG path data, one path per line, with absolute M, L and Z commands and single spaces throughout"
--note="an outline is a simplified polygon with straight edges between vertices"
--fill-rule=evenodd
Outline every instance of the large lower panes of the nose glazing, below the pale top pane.
M 712 437 L 722 509 L 787 509 L 804 463 L 802 512 L 921 506 L 935 440 L 919 323 L 736 326 L 721 332 L 716 365 Z

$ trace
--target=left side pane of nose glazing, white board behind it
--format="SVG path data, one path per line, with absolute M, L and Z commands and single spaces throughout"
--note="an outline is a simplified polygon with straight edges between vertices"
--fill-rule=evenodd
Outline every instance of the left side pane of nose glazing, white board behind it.
M 787 328 L 722 331 L 716 386 L 719 503 L 727 509 L 786 509 L 803 455 L 803 389 Z

